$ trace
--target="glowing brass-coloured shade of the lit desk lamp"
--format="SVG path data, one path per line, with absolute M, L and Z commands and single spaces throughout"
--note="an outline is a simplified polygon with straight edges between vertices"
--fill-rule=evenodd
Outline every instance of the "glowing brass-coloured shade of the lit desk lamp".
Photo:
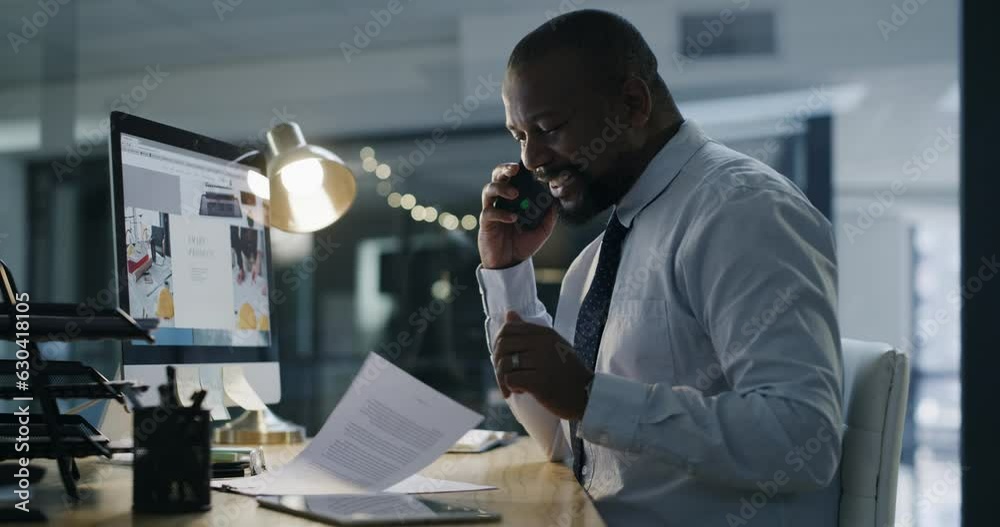
M 351 169 L 333 152 L 306 144 L 299 125 L 276 125 L 267 132 L 267 144 L 272 227 L 318 231 L 354 203 L 358 188 Z

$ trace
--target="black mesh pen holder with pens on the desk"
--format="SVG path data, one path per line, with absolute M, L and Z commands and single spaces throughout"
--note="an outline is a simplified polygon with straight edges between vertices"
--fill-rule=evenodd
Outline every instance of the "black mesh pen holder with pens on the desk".
M 212 421 L 201 407 L 205 390 L 191 406 L 177 399 L 176 372 L 167 367 L 160 405 L 136 408 L 132 508 L 136 512 L 185 513 L 212 508 Z

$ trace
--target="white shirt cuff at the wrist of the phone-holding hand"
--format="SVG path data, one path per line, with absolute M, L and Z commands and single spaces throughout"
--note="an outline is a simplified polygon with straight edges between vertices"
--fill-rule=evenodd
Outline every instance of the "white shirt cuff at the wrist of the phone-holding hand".
M 486 315 L 503 320 L 508 310 L 522 317 L 536 315 L 538 292 L 535 289 L 535 266 L 531 258 L 506 269 L 476 268 L 479 293 Z

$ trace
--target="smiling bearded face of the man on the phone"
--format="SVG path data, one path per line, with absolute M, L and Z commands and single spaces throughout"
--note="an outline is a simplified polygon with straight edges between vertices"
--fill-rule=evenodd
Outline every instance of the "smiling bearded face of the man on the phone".
M 508 70 L 503 102 L 521 161 L 549 185 L 563 219 L 584 223 L 621 198 L 622 108 L 581 60 L 553 52 Z

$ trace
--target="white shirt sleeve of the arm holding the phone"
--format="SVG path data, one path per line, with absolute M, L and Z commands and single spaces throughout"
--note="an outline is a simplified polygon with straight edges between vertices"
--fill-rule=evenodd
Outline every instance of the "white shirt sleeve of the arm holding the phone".
M 493 341 L 503 325 L 507 311 L 515 311 L 525 322 L 552 327 L 552 317 L 538 300 L 535 269 L 531 259 L 507 269 L 476 269 L 479 292 L 486 312 L 486 345 L 493 354 Z M 490 361 L 492 363 L 492 360 Z M 569 443 L 562 432 L 559 417 L 542 406 L 530 393 L 512 393 L 507 398 L 514 417 L 538 443 L 550 461 L 566 457 Z

